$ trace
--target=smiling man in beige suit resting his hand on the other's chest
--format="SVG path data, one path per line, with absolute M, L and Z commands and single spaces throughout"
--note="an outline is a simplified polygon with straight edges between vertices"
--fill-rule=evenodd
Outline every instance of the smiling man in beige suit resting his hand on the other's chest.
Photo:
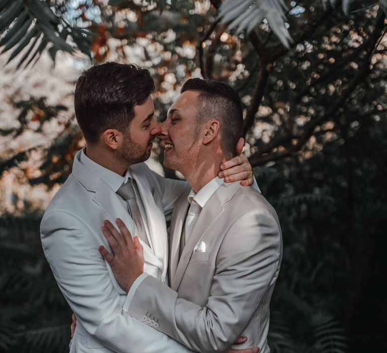
M 278 217 L 260 192 L 217 177 L 241 135 L 239 99 L 211 80 L 188 80 L 181 92 L 159 134 L 164 165 L 192 187 L 172 215 L 171 287 L 142 273 L 142 249 L 133 246 L 122 220 L 123 239 L 104 223 L 114 256 L 103 247 L 101 254 L 131 299 L 123 311 L 148 325 L 156 320 L 155 330 L 200 352 L 224 351 L 243 335 L 243 347 L 269 353 L 269 304 L 282 258 Z

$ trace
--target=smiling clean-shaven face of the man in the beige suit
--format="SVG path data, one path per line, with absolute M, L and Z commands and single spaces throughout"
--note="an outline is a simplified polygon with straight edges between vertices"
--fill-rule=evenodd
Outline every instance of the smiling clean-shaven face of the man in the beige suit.
M 183 174 L 195 167 L 201 145 L 196 124 L 198 96 L 197 91 L 183 92 L 169 108 L 159 134 L 165 143 L 164 166 Z

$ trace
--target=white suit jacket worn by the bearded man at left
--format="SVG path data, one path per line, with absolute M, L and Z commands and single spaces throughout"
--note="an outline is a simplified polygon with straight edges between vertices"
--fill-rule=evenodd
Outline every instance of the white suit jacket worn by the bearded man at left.
M 102 221 L 120 217 L 136 234 L 135 224 L 114 191 L 75 157 L 73 173 L 57 192 L 41 222 L 41 241 L 60 290 L 77 317 L 72 353 L 159 353 L 189 351 L 167 335 L 122 311 L 126 293 L 98 252 L 110 250 Z M 144 204 L 153 249 L 143 244 L 145 271 L 164 280 L 168 240 L 164 214 L 189 187 L 167 180 L 144 163 L 130 167 Z M 161 283 L 161 281 L 160 281 Z

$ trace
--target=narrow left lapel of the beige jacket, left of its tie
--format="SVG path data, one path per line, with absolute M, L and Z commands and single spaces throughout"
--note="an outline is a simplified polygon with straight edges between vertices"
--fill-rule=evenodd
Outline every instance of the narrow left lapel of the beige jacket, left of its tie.
M 185 216 L 187 214 L 188 206 L 188 200 L 184 195 L 184 197 L 178 203 L 176 203 L 175 209 L 177 212 L 173 215 L 171 220 L 171 239 L 169 241 L 169 276 L 171 283 L 173 283 L 173 278 L 176 274 L 177 264 L 179 261 L 181 231 L 183 228 Z

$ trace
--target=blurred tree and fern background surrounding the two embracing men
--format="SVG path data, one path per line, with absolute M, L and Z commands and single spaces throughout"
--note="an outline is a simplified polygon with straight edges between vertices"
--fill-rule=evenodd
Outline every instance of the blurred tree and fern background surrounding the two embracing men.
M 150 70 L 157 119 L 190 77 L 234 87 L 284 255 L 273 352 L 387 352 L 387 1 L 0 0 L 0 352 L 68 350 L 39 223 L 85 144 L 80 73 Z M 162 167 L 155 143 L 148 161 Z M 243 234 L 241 234 L 243 236 Z

